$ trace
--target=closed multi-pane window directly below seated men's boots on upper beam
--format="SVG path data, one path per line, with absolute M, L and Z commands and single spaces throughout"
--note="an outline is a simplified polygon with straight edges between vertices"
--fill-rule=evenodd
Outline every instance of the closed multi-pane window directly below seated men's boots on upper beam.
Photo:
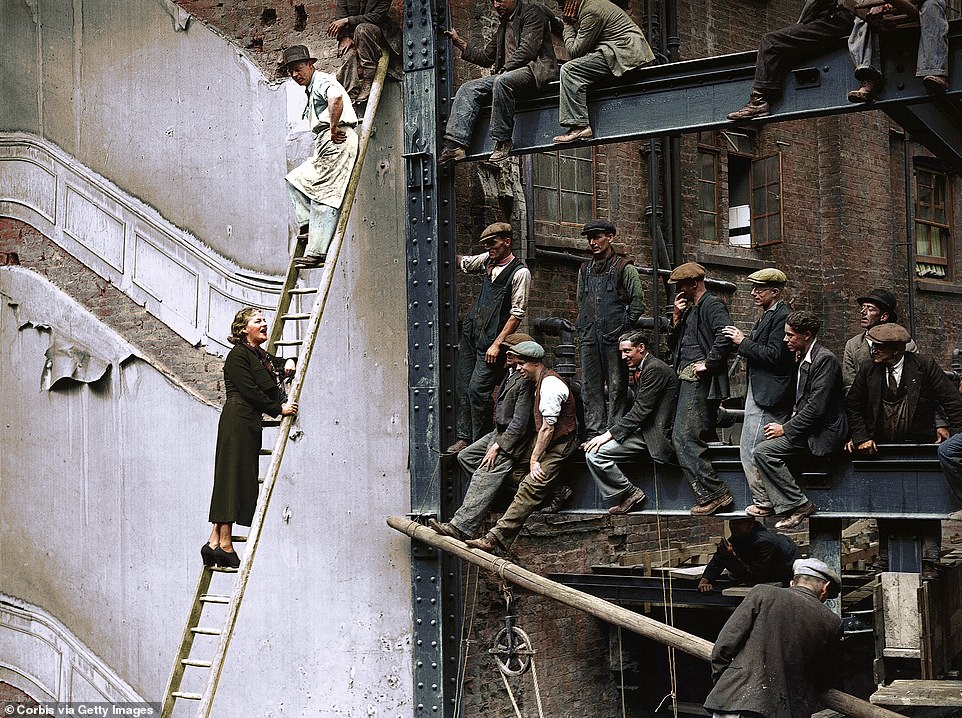
M 583 242 L 581 227 L 594 217 L 595 167 L 590 147 L 541 152 L 531 158 L 535 235 L 539 240 Z M 569 240 L 568 242 L 564 240 Z

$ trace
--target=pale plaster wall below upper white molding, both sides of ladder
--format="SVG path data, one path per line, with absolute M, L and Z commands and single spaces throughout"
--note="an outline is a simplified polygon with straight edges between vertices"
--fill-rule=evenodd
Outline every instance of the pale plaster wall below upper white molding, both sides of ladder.
M 365 164 L 301 396 L 303 435 L 287 448 L 216 716 L 412 710 L 410 545 L 384 524 L 409 505 L 391 125 L 379 124 Z M 26 270 L 0 270 L 0 291 L 0 593 L 49 612 L 160 700 L 209 532 L 218 408 L 137 357 L 43 391 L 50 336 L 34 324 L 88 345 L 119 340 Z M 34 324 L 21 328 L 24 308 Z M 117 346 L 113 357 L 130 351 Z

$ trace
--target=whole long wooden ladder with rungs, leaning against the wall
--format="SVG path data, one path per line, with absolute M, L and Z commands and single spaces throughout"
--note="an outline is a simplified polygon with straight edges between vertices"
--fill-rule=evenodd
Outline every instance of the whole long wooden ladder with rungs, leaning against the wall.
M 298 355 L 297 371 L 291 382 L 288 394 L 289 402 L 296 402 L 301 394 L 301 387 L 304 385 L 304 376 L 310 364 L 311 354 L 314 350 L 314 342 L 317 338 L 318 328 L 320 327 L 321 317 L 327 305 L 327 298 L 334 277 L 334 267 L 341 251 L 344 241 L 344 234 L 347 229 L 347 222 L 350 218 L 351 207 L 354 204 L 354 197 L 357 193 L 360 181 L 361 169 L 364 164 L 364 157 L 367 154 L 367 145 L 371 136 L 371 128 L 377 112 L 377 106 L 381 99 L 381 90 L 387 76 L 388 54 L 384 52 L 381 61 L 378 63 L 377 72 L 371 87 L 371 95 L 368 100 L 367 110 L 364 115 L 361 136 L 358 144 L 357 161 L 348 181 L 347 191 L 341 205 L 341 214 L 338 218 L 337 228 L 334 237 L 331 239 L 331 246 L 327 252 L 327 261 L 323 265 L 321 278 L 318 286 L 297 287 L 299 271 L 294 266 L 294 260 L 303 255 L 304 249 L 298 243 L 295 247 L 291 262 L 287 268 L 287 276 L 284 280 L 284 287 L 277 304 L 277 311 L 274 318 L 274 325 L 271 328 L 270 339 L 268 340 L 267 350 L 274 354 L 278 348 L 292 346 L 300 347 Z M 316 295 L 314 305 L 310 313 L 291 312 L 291 301 L 293 297 L 304 295 Z M 302 339 L 292 339 L 283 341 L 284 326 L 287 322 L 307 322 Z M 217 691 L 217 683 L 220 680 L 224 669 L 224 661 L 227 656 L 227 648 L 230 645 L 231 637 L 234 633 L 234 626 L 237 623 L 237 616 L 240 612 L 241 602 L 244 599 L 244 591 L 247 588 L 247 581 L 250 578 L 251 567 L 254 563 L 254 555 L 257 553 L 257 545 L 260 539 L 261 530 L 264 525 L 264 517 L 270 505 L 271 494 L 274 484 L 280 471 L 281 461 L 284 458 L 284 449 L 291 438 L 291 430 L 294 426 L 293 416 L 285 416 L 280 420 L 270 419 L 264 421 L 264 426 L 277 427 L 277 439 L 272 449 L 261 449 L 262 455 L 270 455 L 270 464 L 267 472 L 262 479 L 261 492 L 257 500 L 257 508 L 254 512 L 254 519 L 251 523 L 250 531 L 247 536 L 234 536 L 236 542 L 246 542 L 247 548 L 240 559 L 240 567 L 220 568 L 204 567 L 197 582 L 197 590 L 194 593 L 194 600 L 191 604 L 190 613 L 187 617 L 187 624 L 180 640 L 180 648 L 177 657 L 174 659 L 174 667 L 167 682 L 167 689 L 164 692 L 164 703 L 161 710 L 162 718 L 171 718 L 174 713 L 174 706 L 178 701 L 189 701 L 197 703 L 197 718 L 207 718 L 210 715 L 214 703 L 214 694 Z M 234 579 L 233 588 L 229 594 L 210 593 L 211 580 L 214 574 L 233 573 L 237 574 Z M 201 621 L 204 609 L 209 604 L 222 604 L 227 607 L 227 616 L 220 627 L 202 626 Z M 213 655 L 204 658 L 192 656 L 194 639 L 197 636 L 210 636 L 217 638 L 217 647 Z M 184 674 L 188 669 L 202 670 L 207 672 L 204 682 L 203 692 L 192 693 L 181 690 Z

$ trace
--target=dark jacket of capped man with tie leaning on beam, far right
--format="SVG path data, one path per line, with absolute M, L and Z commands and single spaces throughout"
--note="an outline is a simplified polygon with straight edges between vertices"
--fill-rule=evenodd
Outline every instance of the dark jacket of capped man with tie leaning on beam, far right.
M 852 441 L 874 439 L 881 419 L 888 372 L 883 364 L 865 364 L 855 375 L 846 400 Z M 909 431 L 905 443 L 935 441 L 935 419 L 948 421 L 951 433 L 962 431 L 962 396 L 932 357 L 906 352 L 900 387 L 908 402 Z

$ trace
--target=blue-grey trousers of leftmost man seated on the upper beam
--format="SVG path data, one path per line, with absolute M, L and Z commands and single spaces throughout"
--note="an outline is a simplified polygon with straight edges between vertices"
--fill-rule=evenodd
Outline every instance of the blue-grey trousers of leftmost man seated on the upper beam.
M 538 83 L 530 67 L 519 67 L 498 75 L 468 80 L 458 88 L 451 103 L 451 114 L 444 137 L 462 147 L 471 144 L 471 133 L 481 106 L 491 100 L 491 125 L 488 136 L 494 142 L 511 139 L 514 132 L 514 106 L 518 95 L 531 96 Z

